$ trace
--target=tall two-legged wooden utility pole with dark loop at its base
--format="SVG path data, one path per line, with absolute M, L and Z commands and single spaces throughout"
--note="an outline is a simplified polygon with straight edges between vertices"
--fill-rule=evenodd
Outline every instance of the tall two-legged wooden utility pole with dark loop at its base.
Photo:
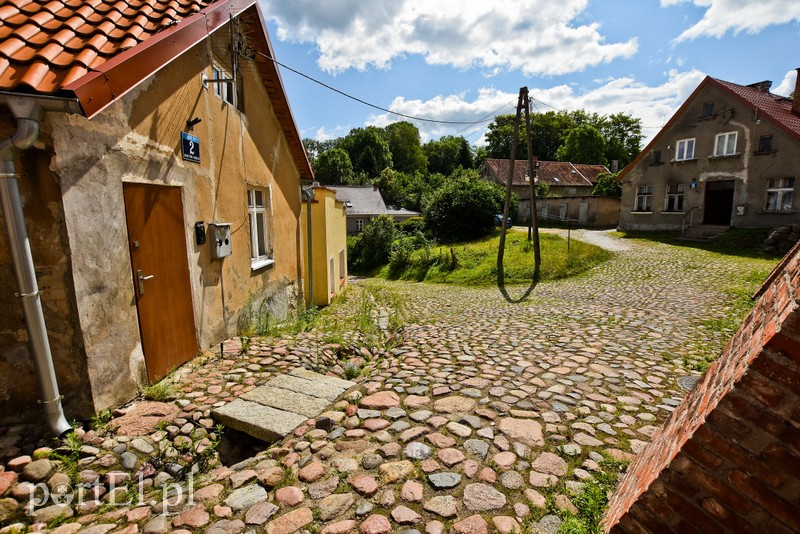
M 530 177 L 530 228 L 533 234 L 533 277 L 531 285 L 518 299 L 514 299 L 509 295 L 505 285 L 505 272 L 503 270 L 503 256 L 506 247 L 506 232 L 508 231 L 508 214 L 511 209 L 511 184 L 514 180 L 514 168 L 517 161 L 517 144 L 519 142 L 519 125 L 522 119 L 522 114 L 525 113 L 525 141 L 526 148 L 528 149 L 528 176 Z M 531 140 L 531 114 L 530 114 L 530 100 L 528 98 L 528 88 L 521 87 L 519 90 L 519 99 L 517 101 L 517 114 L 514 118 L 514 130 L 511 137 L 511 158 L 509 160 L 508 181 L 506 182 L 506 198 L 503 205 L 503 220 L 500 226 L 500 244 L 497 248 L 497 287 L 502 293 L 503 297 L 508 302 L 519 303 L 527 299 L 533 292 L 533 289 L 539 283 L 541 275 L 542 256 L 539 248 L 539 225 L 536 220 L 536 173 L 537 169 L 533 162 L 533 143 Z

